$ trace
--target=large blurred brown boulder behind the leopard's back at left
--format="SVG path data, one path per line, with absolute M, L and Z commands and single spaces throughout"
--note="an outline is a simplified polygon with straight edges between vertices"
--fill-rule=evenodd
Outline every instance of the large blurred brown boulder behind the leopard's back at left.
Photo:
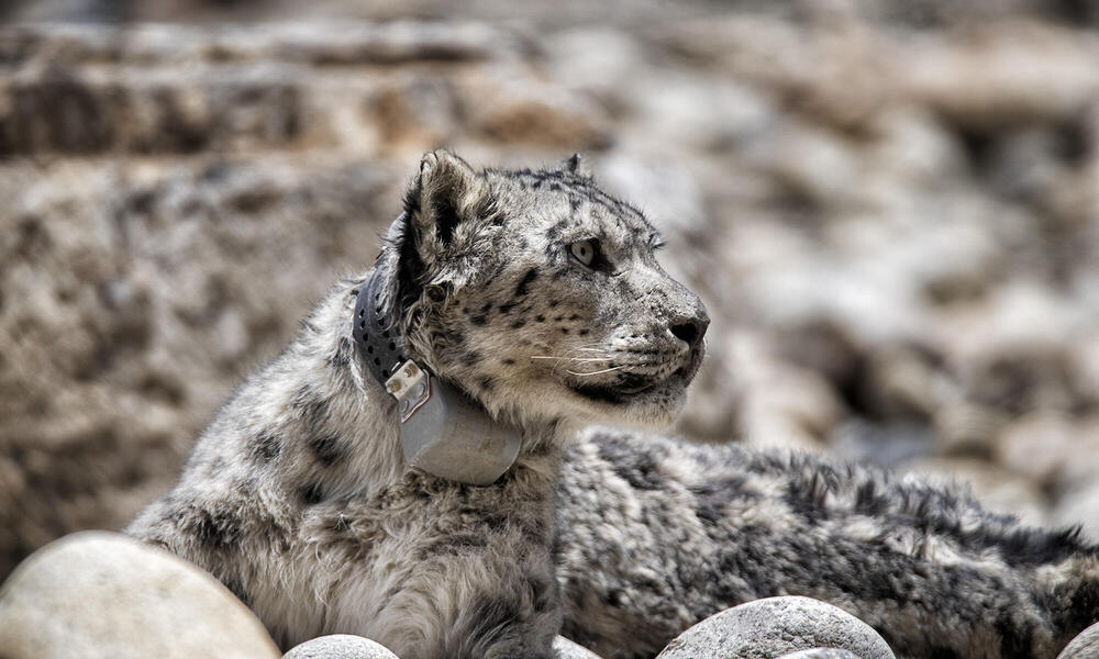
M 367 267 L 402 181 L 276 155 L 0 170 L 2 579 L 164 493 L 231 383 Z

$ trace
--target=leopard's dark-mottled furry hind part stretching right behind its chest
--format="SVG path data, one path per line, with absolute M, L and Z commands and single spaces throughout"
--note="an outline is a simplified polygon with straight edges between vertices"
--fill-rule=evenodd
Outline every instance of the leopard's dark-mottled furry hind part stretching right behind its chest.
M 564 634 L 607 659 L 773 595 L 840 606 L 898 657 L 1052 659 L 1099 621 L 1099 547 L 956 484 L 595 429 L 558 491 Z

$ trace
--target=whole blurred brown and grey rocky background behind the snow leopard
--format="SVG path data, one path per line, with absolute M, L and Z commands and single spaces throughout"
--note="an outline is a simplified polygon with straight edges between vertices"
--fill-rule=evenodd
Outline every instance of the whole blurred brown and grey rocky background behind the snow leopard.
M 421 152 L 585 153 L 713 316 L 670 432 L 1099 539 L 1099 4 L 0 3 L 0 577 L 167 489 Z

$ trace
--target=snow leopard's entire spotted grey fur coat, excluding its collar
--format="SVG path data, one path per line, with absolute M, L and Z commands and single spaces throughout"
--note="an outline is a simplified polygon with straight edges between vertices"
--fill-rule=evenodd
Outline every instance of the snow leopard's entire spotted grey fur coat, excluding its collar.
M 129 533 L 221 579 L 285 648 L 358 634 L 402 659 L 550 657 L 563 614 L 604 657 L 654 656 L 777 594 L 831 602 L 909 657 L 1053 657 L 1097 617 L 1094 547 L 956 488 L 624 432 L 565 453 L 591 422 L 669 423 L 707 324 L 653 227 L 580 165 L 428 154 L 379 256 L 406 353 L 522 428 L 500 480 L 403 463 L 393 401 L 352 342 L 364 273 L 241 387 Z

